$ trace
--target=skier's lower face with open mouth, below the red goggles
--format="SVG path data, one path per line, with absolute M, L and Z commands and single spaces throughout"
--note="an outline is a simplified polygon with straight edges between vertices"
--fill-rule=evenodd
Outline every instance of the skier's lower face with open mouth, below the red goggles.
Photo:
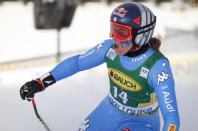
M 113 38 L 113 49 L 117 55 L 125 55 L 132 48 L 132 43 L 125 44 Z

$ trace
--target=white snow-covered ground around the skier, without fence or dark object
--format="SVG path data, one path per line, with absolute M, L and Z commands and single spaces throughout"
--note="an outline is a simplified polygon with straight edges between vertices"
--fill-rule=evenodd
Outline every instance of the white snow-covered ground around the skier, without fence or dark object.
M 187 7 L 180 12 L 167 4 L 160 8 L 153 4 L 148 5 L 158 16 L 160 24 L 156 28 L 156 34 L 163 36 L 162 51 L 169 57 L 172 65 L 181 117 L 180 131 L 197 131 L 198 36 L 194 33 L 182 35 L 177 30 L 193 32 L 198 27 L 198 9 Z M 110 7 L 105 4 L 85 4 L 77 8 L 71 28 L 64 29 L 61 33 L 61 51 L 86 49 L 108 38 L 109 15 L 115 6 L 116 4 Z M 0 6 L 0 16 L 0 63 L 55 54 L 56 32 L 34 29 L 31 4 L 4 4 Z M 173 37 L 166 38 L 166 28 L 175 31 L 175 34 L 171 34 Z M 51 64 L 0 72 L 0 131 L 45 130 L 36 119 L 31 103 L 20 99 L 19 88 L 26 81 L 41 76 L 54 66 Z M 35 96 L 38 111 L 52 131 L 78 129 L 83 118 L 108 92 L 106 71 L 106 65 L 102 65 L 80 72 Z

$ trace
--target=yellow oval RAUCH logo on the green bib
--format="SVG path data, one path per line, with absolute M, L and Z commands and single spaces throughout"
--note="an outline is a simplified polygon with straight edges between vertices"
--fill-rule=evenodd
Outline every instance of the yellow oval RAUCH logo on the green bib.
M 118 70 L 109 68 L 109 77 L 116 85 L 125 90 L 132 92 L 142 90 L 142 87 L 135 80 Z

